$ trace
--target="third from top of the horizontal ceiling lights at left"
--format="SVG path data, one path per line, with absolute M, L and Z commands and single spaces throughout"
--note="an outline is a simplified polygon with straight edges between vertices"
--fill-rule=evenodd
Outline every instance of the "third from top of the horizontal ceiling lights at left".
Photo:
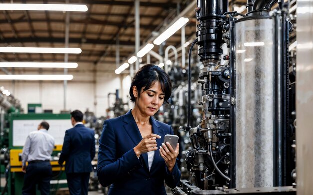
M 77 63 L 0 62 L 0 68 L 77 68 Z

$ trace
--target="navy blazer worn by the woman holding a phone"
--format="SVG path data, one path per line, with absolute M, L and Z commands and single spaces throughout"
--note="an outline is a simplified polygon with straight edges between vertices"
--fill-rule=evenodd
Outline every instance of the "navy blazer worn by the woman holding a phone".
M 156 139 L 151 171 L 148 168 L 148 155 L 138 159 L 133 148 L 142 140 L 138 126 L 129 111 L 115 119 L 104 122 L 99 140 L 98 178 L 102 186 L 110 184 L 109 195 L 166 195 L 166 184 L 174 188 L 180 180 L 177 163 L 169 172 L 159 147 L 166 134 L 173 134 L 171 126 L 150 118 L 152 131 L 162 138 Z

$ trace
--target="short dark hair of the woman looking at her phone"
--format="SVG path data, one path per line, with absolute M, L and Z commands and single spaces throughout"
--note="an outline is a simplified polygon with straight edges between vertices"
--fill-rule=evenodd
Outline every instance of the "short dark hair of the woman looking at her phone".
M 132 91 L 133 86 L 137 87 L 138 97 L 140 97 L 140 93 L 151 88 L 156 81 L 160 82 L 161 89 L 165 94 L 164 102 L 168 104 L 167 100 L 171 95 L 171 82 L 169 76 L 162 68 L 154 64 L 142 66 L 142 68 L 140 68 L 140 70 L 133 77 L 129 90 L 130 100 L 132 102 L 136 101 Z M 141 91 L 141 89 L 143 90 Z

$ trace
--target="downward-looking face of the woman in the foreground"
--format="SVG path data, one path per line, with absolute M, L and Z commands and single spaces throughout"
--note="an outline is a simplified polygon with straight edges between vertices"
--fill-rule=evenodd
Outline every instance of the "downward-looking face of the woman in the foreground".
M 143 89 L 141 89 L 142 91 Z M 143 115 L 153 116 L 164 103 L 165 94 L 158 81 L 151 88 L 140 93 L 139 98 L 137 88 L 134 86 L 133 94 L 136 97 L 135 106 Z

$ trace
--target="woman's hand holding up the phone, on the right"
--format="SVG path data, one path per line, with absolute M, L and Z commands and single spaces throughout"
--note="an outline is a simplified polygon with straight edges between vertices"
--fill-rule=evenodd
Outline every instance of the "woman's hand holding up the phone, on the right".
M 171 172 L 175 166 L 176 158 L 179 154 L 179 144 L 177 143 L 176 149 L 174 150 L 169 142 L 166 142 L 166 145 L 162 143 L 162 146 L 160 146 L 160 154 L 161 157 L 165 160 L 165 164 L 168 170 Z

